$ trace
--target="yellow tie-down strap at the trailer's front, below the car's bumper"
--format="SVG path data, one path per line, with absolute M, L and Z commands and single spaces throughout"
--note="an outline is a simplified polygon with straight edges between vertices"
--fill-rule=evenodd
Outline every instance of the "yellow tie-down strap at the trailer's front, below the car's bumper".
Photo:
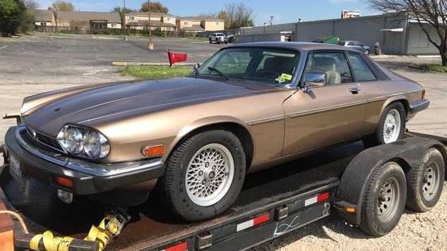
M 93 225 L 84 240 L 97 241 L 99 243 L 99 251 L 104 250 L 112 238 L 119 235 L 121 228 L 126 222 L 119 221 L 117 215 L 107 214 L 98 226 Z M 35 235 L 30 240 L 30 250 L 39 251 L 39 243 L 42 240 L 47 251 L 68 251 L 71 241 L 75 238 L 54 237 L 51 231 Z

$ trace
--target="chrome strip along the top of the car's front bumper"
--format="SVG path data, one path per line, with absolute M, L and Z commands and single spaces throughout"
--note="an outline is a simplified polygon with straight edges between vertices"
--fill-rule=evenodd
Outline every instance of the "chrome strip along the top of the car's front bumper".
M 81 173 L 86 173 L 93 176 L 116 176 L 133 171 L 151 169 L 164 164 L 162 158 L 147 159 L 143 161 L 129 161 L 114 164 L 98 164 L 83 161 L 81 159 L 72 159 L 63 156 L 59 152 L 48 152 L 44 149 L 37 149 L 35 147 L 32 147 L 32 145 L 23 140 L 22 135 L 20 135 L 21 133 L 28 133 L 26 132 L 26 127 L 23 124 L 18 125 L 18 127 L 16 128 L 16 140 L 25 150 L 27 150 L 31 154 L 34 154 L 35 156 L 40 157 L 45 161 L 49 161 L 53 164 L 65 167 L 66 169 L 79 171 Z

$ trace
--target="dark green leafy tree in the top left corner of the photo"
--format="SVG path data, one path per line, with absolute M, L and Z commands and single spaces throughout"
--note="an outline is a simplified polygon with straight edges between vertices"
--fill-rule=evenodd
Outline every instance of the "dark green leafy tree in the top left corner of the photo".
M 25 4 L 21 0 L 0 1 L 0 32 L 2 35 L 14 35 L 23 23 Z

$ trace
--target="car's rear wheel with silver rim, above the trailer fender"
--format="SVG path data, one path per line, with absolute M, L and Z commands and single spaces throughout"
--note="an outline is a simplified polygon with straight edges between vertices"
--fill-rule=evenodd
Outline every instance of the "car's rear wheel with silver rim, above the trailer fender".
M 387 144 L 403 139 L 405 135 L 405 108 L 402 103 L 394 102 L 386 107 L 376 130 L 364 137 L 365 147 Z

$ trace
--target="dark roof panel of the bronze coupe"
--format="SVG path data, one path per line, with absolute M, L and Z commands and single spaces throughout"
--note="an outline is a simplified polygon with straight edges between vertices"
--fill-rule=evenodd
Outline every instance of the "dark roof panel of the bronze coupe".
M 322 44 L 311 42 L 249 42 L 241 44 L 233 44 L 230 47 L 273 47 L 278 49 L 294 49 L 298 51 L 314 51 L 314 50 L 338 50 L 338 51 L 355 51 L 347 47 L 340 47 L 338 44 Z M 225 47 L 227 48 L 227 47 Z

